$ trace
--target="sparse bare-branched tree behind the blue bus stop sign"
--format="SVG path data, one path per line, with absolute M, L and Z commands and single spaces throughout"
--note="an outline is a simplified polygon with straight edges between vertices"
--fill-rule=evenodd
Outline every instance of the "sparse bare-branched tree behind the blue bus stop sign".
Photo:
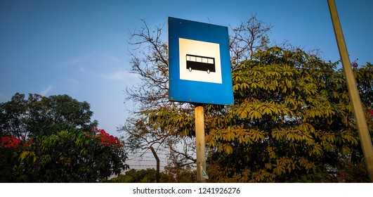
M 184 118 L 190 120 L 192 117 L 194 107 L 190 103 L 169 101 L 168 45 L 162 41 L 164 25 L 150 28 L 145 20 L 140 22 L 142 27 L 129 33 L 129 44 L 133 46 L 129 50 L 132 57 L 129 72 L 138 75 L 141 83 L 125 90 L 126 101 L 133 101 L 138 108 L 122 130 L 132 148 L 141 151 L 150 146 L 167 149 L 174 167 L 184 167 L 195 163 L 191 155 L 195 152 L 195 147 L 191 146 L 194 127 L 183 125 L 187 122 Z M 268 44 L 267 33 L 271 27 L 258 20 L 256 15 L 251 15 L 247 22 L 232 28 L 230 53 L 233 69 Z

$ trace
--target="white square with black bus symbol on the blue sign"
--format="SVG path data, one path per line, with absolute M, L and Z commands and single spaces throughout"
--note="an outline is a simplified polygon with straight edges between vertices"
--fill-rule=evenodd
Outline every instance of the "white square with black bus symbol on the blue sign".
M 219 44 L 179 38 L 180 79 L 221 84 Z

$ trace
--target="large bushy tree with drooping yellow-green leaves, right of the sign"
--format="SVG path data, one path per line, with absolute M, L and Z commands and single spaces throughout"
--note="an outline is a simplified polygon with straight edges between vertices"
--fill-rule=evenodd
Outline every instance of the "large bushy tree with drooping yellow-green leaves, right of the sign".
M 367 69 L 354 72 L 368 85 L 360 88 L 372 89 Z M 207 106 L 212 182 L 337 182 L 342 161 L 363 163 L 336 63 L 270 48 L 236 66 L 233 90 L 235 106 Z

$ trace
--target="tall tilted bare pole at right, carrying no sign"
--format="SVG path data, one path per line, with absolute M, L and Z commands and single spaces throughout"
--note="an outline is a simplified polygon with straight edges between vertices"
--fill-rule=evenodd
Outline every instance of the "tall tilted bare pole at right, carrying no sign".
M 338 44 L 339 55 L 341 56 L 342 66 L 344 74 L 346 76 L 346 82 L 348 87 L 348 93 L 353 107 L 353 113 L 355 114 L 356 124 L 358 125 L 358 132 L 360 136 L 360 143 L 362 151 L 364 153 L 365 163 L 367 164 L 367 170 L 369 174 L 370 182 L 373 182 L 373 146 L 372 140 L 369 135 L 367 127 L 367 121 L 365 120 L 365 114 L 362 109 L 360 96 L 358 94 L 358 88 L 356 87 L 355 77 L 351 68 L 350 58 L 348 57 L 348 51 L 346 43 L 344 41 L 341 23 L 339 22 L 338 12 L 336 11 L 336 4 L 334 0 L 328 0 L 330 15 L 332 16 L 332 23 L 334 27 L 334 33 L 336 35 L 336 43 Z

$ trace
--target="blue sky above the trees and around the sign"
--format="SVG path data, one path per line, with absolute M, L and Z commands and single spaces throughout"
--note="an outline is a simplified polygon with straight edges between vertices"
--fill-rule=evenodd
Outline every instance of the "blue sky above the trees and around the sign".
M 335 0 L 351 61 L 373 62 L 373 1 Z M 129 31 L 167 17 L 237 27 L 257 14 L 277 43 L 320 49 L 338 61 L 327 0 L 314 1 L 20 1 L 0 0 L 0 102 L 16 92 L 67 94 L 91 103 L 101 129 L 118 135 L 133 108 L 124 89 L 140 82 L 131 67 Z M 164 40 L 166 41 L 166 40 Z

